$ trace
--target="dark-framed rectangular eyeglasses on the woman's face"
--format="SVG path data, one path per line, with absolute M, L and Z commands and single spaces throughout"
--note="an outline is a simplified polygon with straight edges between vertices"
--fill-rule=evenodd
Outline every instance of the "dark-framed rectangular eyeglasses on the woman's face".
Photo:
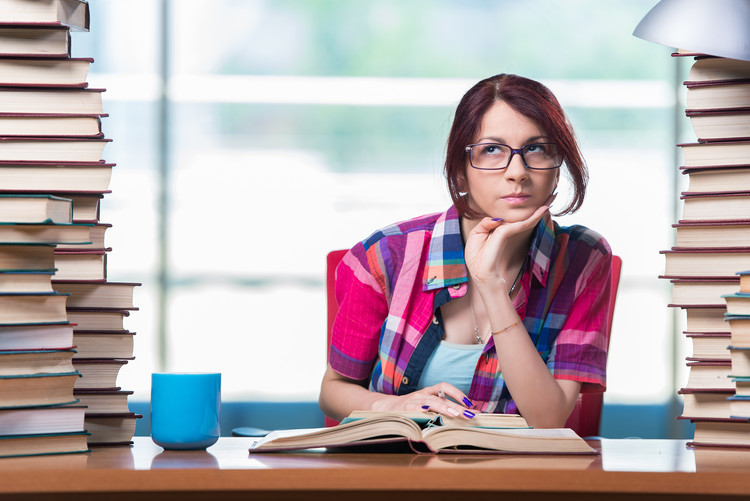
M 513 155 L 521 155 L 528 169 L 550 170 L 562 165 L 562 157 L 555 143 L 531 143 L 521 149 L 514 149 L 501 143 L 478 143 L 466 147 L 471 166 L 482 170 L 507 169 Z

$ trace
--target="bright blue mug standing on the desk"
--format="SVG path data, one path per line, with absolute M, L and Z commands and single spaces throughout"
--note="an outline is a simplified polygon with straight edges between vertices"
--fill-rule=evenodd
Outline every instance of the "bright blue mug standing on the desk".
M 151 438 L 165 449 L 201 450 L 220 435 L 221 374 L 151 374 Z

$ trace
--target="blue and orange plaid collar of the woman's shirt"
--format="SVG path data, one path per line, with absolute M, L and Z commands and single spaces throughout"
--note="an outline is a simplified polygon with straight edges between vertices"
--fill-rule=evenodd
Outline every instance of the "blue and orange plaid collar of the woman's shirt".
M 554 245 L 554 222 L 547 212 L 534 230 L 528 258 L 531 272 L 542 286 L 547 283 Z M 455 207 L 451 206 L 435 221 L 427 252 L 422 290 L 441 289 L 468 281 L 461 238 L 461 218 Z

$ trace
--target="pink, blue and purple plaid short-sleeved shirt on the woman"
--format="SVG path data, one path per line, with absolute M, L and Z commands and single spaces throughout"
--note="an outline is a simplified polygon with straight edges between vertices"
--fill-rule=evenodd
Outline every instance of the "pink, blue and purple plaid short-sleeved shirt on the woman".
M 513 304 L 557 379 L 606 387 L 612 251 L 583 226 L 560 227 L 549 213 L 534 231 Z M 442 336 L 440 306 L 467 291 L 460 218 L 454 207 L 376 231 L 336 270 L 339 311 L 329 363 L 370 380 L 370 390 L 416 389 Z M 468 397 L 483 412 L 518 412 L 490 337 Z

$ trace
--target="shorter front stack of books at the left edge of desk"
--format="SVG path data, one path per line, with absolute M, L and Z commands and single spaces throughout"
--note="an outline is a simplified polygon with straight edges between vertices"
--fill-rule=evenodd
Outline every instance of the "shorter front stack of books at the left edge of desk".
M 88 233 L 70 200 L 0 195 L 0 457 L 87 450 L 68 296 L 52 276 L 55 245 Z

